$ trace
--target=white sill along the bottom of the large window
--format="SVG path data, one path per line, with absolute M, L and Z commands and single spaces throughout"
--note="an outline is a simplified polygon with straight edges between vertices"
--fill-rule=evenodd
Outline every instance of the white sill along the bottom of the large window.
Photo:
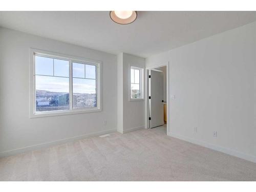
M 101 109 L 94 108 L 94 109 L 87 109 L 87 110 L 74 109 L 72 111 L 41 112 L 41 113 L 30 114 L 30 118 L 51 117 L 51 116 L 61 116 L 61 115 L 74 115 L 74 114 L 81 114 L 81 113 L 94 113 L 94 112 L 100 112 L 100 111 L 101 111 Z

